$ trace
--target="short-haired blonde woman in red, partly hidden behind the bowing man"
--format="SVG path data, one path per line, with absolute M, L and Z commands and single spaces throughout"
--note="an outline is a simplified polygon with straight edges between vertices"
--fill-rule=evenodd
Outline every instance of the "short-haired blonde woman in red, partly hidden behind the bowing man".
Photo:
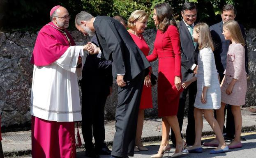
M 147 27 L 148 22 L 148 14 L 143 10 L 136 10 L 131 13 L 131 16 L 128 19 L 128 27 L 129 27 L 129 34 L 131 35 L 132 39 L 134 40 L 135 44 L 144 55 L 148 55 L 149 47 L 148 44 L 145 42 L 143 35 L 141 34 L 144 32 L 145 28 Z M 150 71 L 152 71 L 150 69 Z M 147 151 L 148 149 L 143 146 L 141 142 L 141 135 L 142 135 L 142 128 L 143 128 L 143 120 L 144 120 L 144 110 L 147 108 L 153 108 L 152 105 L 152 92 L 151 92 L 151 81 L 150 81 L 150 74 L 145 77 L 144 86 L 142 89 L 141 94 L 141 103 L 138 112 L 138 122 L 137 122 L 137 130 L 136 130 L 136 139 L 135 139 L 135 148 L 134 151 Z M 136 146 L 138 148 L 136 148 Z

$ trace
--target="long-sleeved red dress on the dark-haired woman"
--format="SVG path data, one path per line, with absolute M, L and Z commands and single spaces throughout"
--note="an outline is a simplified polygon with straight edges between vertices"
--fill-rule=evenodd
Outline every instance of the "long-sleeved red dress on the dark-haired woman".
M 174 85 L 175 76 L 181 78 L 180 35 L 177 27 L 169 25 L 163 33 L 157 30 L 154 50 L 149 62 L 158 61 L 158 116 L 177 115 L 180 92 Z

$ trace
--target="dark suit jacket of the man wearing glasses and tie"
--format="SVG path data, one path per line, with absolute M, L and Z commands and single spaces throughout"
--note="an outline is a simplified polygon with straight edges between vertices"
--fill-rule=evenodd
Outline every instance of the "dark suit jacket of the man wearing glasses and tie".
M 193 64 L 197 65 L 198 44 L 195 48 L 190 32 L 183 19 L 178 23 L 180 32 L 180 52 L 181 52 L 181 73 L 182 81 L 186 81 L 193 77 L 194 73 L 190 69 Z

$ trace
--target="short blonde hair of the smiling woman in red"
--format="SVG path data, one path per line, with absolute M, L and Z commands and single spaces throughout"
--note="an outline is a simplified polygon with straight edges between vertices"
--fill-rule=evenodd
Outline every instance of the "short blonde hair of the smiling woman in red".
M 136 10 L 131 13 L 127 24 L 130 29 L 134 29 L 136 21 L 143 22 L 145 20 L 148 20 L 148 14 L 143 10 Z

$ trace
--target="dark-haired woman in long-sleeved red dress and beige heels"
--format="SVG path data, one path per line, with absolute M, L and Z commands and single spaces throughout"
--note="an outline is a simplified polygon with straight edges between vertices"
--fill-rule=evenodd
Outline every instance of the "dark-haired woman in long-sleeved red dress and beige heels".
M 176 149 L 172 157 L 182 154 L 185 146 L 180 135 L 177 113 L 181 89 L 180 36 L 176 27 L 172 8 L 167 3 L 154 7 L 153 19 L 157 27 L 154 50 L 147 56 L 149 62 L 159 59 L 158 65 L 158 116 L 162 117 L 162 141 L 153 158 L 159 158 L 170 151 L 168 144 L 170 128 L 176 136 Z

